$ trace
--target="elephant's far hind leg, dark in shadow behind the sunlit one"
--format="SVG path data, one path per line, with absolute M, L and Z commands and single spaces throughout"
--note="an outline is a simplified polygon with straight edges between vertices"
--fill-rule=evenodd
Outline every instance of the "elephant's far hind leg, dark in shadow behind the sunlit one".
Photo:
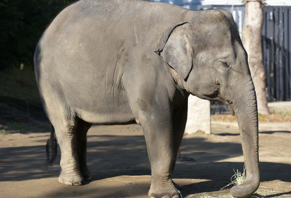
M 87 167 L 87 132 L 92 126 L 92 123 L 87 123 L 83 120 L 78 121 L 77 125 L 77 155 L 81 175 L 85 181 L 92 179 L 92 174 Z

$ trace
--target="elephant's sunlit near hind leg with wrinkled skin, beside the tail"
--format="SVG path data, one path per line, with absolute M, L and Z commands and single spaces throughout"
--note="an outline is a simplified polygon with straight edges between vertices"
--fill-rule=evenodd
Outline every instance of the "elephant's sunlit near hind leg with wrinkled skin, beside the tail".
M 62 123 L 53 125 L 61 148 L 61 174 L 58 181 L 66 185 L 80 186 L 84 179 L 81 176 L 76 151 L 77 120 L 65 119 Z

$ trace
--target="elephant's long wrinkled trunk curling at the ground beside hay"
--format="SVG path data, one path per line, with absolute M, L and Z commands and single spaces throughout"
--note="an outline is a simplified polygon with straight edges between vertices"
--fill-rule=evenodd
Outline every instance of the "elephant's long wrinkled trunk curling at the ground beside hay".
M 231 188 L 233 197 L 249 197 L 260 185 L 258 154 L 258 108 L 255 89 L 251 77 L 244 85 L 244 90 L 233 101 L 233 109 L 242 139 L 242 150 L 246 167 L 246 181 Z

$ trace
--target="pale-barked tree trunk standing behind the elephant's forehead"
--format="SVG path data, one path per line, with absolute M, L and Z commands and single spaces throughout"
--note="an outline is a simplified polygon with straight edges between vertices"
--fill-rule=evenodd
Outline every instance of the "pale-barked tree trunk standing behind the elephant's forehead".
M 248 53 L 249 67 L 257 95 L 258 112 L 260 114 L 269 114 L 265 89 L 266 75 L 262 56 L 262 26 L 262 1 L 246 1 L 242 42 Z

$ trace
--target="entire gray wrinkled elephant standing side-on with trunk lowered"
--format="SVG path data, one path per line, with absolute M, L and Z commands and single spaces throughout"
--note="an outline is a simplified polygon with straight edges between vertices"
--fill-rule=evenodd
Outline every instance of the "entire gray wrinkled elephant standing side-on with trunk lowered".
M 148 196 L 178 198 L 171 179 L 189 94 L 229 105 L 237 115 L 246 182 L 260 182 L 258 113 L 247 54 L 226 10 L 192 11 L 141 0 L 81 0 L 47 28 L 34 56 L 45 112 L 61 148 L 59 182 L 82 185 L 91 123 L 138 123 L 151 165 Z

